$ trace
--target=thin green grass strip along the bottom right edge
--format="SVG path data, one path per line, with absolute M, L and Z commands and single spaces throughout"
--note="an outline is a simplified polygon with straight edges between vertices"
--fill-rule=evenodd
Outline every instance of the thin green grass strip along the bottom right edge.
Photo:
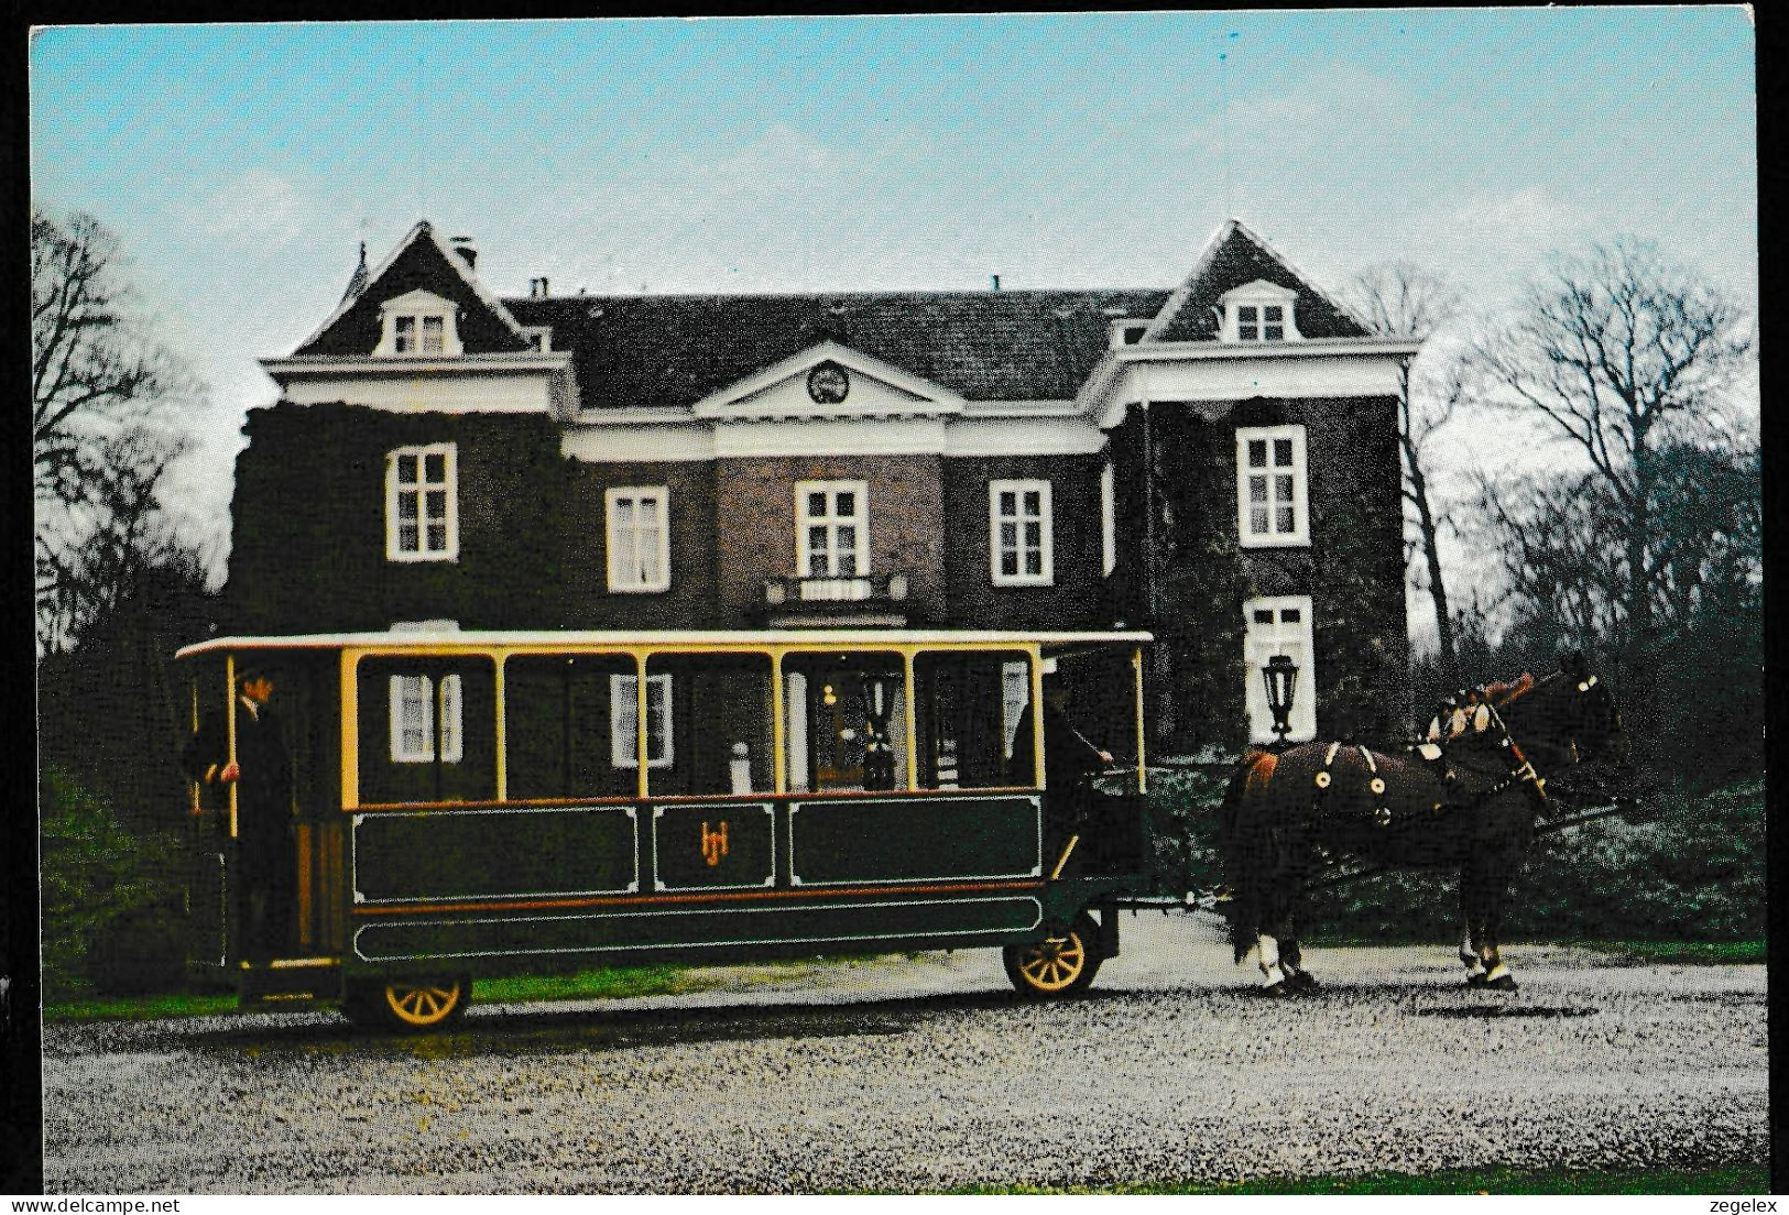
M 1347 1177 L 1256 1177 L 1220 1185 L 1152 1185 L 1054 1190 L 1047 1186 L 970 1186 L 952 1194 L 1768 1194 L 1766 1165 L 1719 1168 L 1635 1168 L 1590 1172 L 1547 1168 L 1449 1168 L 1447 1172 L 1363 1172 Z

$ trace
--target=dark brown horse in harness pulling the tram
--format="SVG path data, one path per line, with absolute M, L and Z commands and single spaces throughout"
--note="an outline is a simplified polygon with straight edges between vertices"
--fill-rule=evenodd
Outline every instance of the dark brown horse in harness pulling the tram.
M 1261 986 L 1317 986 L 1299 950 L 1308 882 L 1335 857 L 1381 868 L 1460 871 L 1469 986 L 1513 991 L 1497 954 L 1510 879 L 1549 812 L 1546 780 L 1573 764 L 1623 759 L 1608 687 L 1567 657 L 1560 671 L 1476 689 L 1437 718 L 1440 746 L 1386 755 L 1342 743 L 1254 752 L 1231 778 L 1218 843 L 1236 961 L 1258 950 Z

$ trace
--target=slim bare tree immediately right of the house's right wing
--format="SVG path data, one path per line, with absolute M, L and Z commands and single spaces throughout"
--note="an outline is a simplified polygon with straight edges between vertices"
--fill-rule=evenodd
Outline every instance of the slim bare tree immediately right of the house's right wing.
M 1349 285 L 1347 301 L 1376 333 L 1419 340 L 1433 336 L 1463 308 L 1458 288 L 1408 261 L 1361 270 Z M 1444 675 L 1451 675 L 1456 666 L 1454 617 L 1447 607 L 1447 578 L 1440 549 L 1444 505 L 1431 487 L 1428 455 L 1435 435 L 1453 421 L 1465 399 L 1467 379 L 1458 358 L 1431 356 L 1424 351 L 1399 369 L 1397 442 L 1404 463 L 1403 494 L 1415 523 L 1413 551 L 1408 560 L 1413 580 L 1435 603 L 1435 635 Z M 1419 557 L 1420 567 L 1415 564 Z

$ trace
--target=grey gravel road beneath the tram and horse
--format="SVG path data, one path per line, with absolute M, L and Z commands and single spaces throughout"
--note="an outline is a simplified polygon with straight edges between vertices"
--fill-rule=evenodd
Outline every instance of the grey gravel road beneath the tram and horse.
M 1217 922 L 1125 916 L 1086 998 L 998 954 L 737 968 L 640 1000 L 472 1006 L 385 1038 L 333 1013 L 45 1032 L 63 1192 L 825 1192 L 1467 1165 L 1764 1161 L 1762 966 L 1510 947 L 1311 950 L 1249 993 Z

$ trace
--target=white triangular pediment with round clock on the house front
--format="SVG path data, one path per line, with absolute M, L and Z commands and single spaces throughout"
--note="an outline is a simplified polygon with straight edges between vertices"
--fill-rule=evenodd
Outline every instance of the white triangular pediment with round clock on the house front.
M 821 342 L 703 397 L 692 412 L 741 422 L 939 417 L 961 413 L 962 397 L 862 351 Z

